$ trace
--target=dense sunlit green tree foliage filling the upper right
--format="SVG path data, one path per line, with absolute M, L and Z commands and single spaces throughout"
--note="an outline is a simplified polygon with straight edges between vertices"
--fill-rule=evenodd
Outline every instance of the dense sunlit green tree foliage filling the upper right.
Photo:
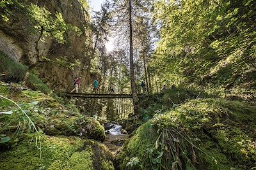
M 253 1 L 157 1 L 160 41 L 148 70 L 160 83 L 253 100 Z M 164 64 L 163 64 L 164 63 Z

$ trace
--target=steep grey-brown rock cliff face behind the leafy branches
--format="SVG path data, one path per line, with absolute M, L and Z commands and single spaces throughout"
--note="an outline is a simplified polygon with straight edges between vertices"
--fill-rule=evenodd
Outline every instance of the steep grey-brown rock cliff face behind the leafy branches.
M 20 3 L 24 3 L 20 1 Z M 51 12 L 52 17 L 61 13 L 65 23 L 76 26 L 82 31 L 77 35 L 74 31 L 65 32 L 65 44 L 60 44 L 49 36 L 40 36 L 40 32 L 31 31 L 33 25 L 22 10 L 15 6 L 8 6 L 11 15 L 8 21 L 0 18 L 0 50 L 6 53 L 8 57 L 17 62 L 31 66 L 36 63 L 36 52 L 40 56 L 45 56 L 53 62 L 40 62 L 37 65 L 36 72 L 47 85 L 56 90 L 69 90 L 74 76 L 83 76 L 82 84 L 86 85 L 90 80 L 90 75 L 82 71 L 81 66 L 86 66 L 90 62 L 90 57 L 86 55 L 86 50 L 90 48 L 92 34 L 89 29 L 90 16 L 83 4 L 79 0 L 52 0 L 52 1 L 34 1 L 29 0 L 27 4 L 37 4 Z M 43 39 L 43 41 L 42 41 Z M 38 50 L 38 51 L 36 51 Z M 67 59 L 67 62 L 74 63 L 79 61 L 81 64 L 70 69 L 57 64 L 56 59 Z

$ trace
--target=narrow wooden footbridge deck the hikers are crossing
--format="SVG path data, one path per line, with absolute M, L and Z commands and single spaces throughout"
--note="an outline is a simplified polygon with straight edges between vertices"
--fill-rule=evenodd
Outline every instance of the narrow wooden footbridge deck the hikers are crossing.
M 67 93 L 70 97 L 81 98 L 98 98 L 98 99 L 116 99 L 116 98 L 132 98 L 131 94 L 83 94 L 83 93 Z

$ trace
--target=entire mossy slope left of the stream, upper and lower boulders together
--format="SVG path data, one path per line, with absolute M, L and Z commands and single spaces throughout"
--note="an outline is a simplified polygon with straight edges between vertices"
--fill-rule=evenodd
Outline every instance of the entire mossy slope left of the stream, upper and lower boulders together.
M 1 82 L 0 95 L 1 169 L 114 169 L 111 152 L 97 142 L 104 127 L 75 101 L 19 83 Z

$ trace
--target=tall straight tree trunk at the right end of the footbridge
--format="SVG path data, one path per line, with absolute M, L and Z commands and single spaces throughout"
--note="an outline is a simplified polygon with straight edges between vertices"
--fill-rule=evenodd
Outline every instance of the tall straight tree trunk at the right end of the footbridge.
M 130 28 L 130 70 L 131 70 L 131 87 L 132 87 L 132 101 L 134 108 L 134 115 L 139 113 L 139 103 L 135 84 L 134 66 L 133 66 L 133 51 L 132 51 L 132 0 L 129 0 L 129 28 Z

